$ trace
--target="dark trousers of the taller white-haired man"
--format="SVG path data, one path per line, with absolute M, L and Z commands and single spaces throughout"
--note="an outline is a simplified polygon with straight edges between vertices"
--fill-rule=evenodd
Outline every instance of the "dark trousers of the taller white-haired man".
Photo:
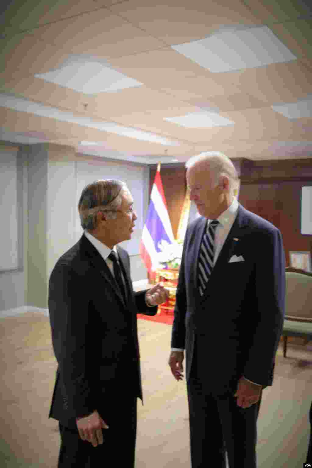
M 230 468 L 256 468 L 256 421 L 260 401 L 242 409 L 231 393 L 209 393 L 200 378 L 205 372 L 207 379 L 209 366 L 197 369 L 197 350 L 194 358 L 188 381 L 192 468 L 225 468 L 225 452 Z

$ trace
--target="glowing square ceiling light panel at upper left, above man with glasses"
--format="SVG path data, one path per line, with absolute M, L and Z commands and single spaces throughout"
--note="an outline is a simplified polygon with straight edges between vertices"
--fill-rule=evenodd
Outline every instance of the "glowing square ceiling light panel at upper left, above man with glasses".
M 84 94 L 118 91 L 143 84 L 117 72 L 105 60 L 88 55 L 72 55 L 58 69 L 35 77 Z

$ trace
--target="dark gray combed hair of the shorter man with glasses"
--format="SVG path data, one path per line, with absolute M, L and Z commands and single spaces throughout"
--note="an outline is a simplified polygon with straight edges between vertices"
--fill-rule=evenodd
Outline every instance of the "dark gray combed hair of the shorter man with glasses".
M 82 190 L 78 203 L 81 227 L 93 230 L 97 226 L 96 215 L 100 211 L 107 212 L 109 219 L 116 218 L 116 210 L 122 204 L 121 191 L 127 189 L 120 180 L 96 180 L 86 185 Z

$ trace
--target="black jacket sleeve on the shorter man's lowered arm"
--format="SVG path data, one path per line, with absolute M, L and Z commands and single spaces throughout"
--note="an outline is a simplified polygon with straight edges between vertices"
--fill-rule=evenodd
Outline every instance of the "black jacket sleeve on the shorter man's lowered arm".
M 89 298 L 86 288 L 85 279 L 67 265 L 59 263 L 52 271 L 49 282 L 52 344 L 65 398 L 76 417 L 96 409 L 86 368 Z

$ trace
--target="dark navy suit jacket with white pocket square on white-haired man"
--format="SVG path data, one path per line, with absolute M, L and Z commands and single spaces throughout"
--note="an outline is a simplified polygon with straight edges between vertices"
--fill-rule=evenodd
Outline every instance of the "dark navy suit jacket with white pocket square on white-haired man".
M 285 307 L 281 233 L 239 205 L 201 297 L 197 264 L 206 221 L 196 219 L 185 236 L 171 345 L 186 349 L 188 380 L 196 334 L 198 366 L 213 393 L 235 392 L 241 376 L 271 385 Z M 244 261 L 229 263 L 233 255 Z

